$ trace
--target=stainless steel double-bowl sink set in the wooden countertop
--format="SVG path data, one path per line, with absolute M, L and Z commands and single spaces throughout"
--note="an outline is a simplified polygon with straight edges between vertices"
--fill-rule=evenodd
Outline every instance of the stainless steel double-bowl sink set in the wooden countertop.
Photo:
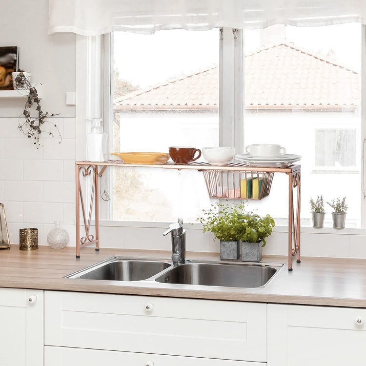
M 259 288 L 267 285 L 282 266 L 206 261 L 186 261 L 173 266 L 168 261 L 112 257 L 65 278 Z

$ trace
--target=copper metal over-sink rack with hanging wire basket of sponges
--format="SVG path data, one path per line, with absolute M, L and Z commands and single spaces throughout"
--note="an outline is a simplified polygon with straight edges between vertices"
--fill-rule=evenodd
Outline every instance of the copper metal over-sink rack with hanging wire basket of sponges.
M 99 250 L 99 178 L 102 177 L 108 166 L 202 171 L 210 197 L 243 200 L 261 200 L 267 197 L 271 189 L 274 173 L 285 173 L 288 176 L 288 270 L 292 270 L 293 258 L 296 257 L 297 262 L 300 263 L 300 165 L 265 168 L 249 166 L 246 163 L 229 163 L 227 165 L 217 166 L 210 165 L 209 163 L 175 164 L 168 162 L 149 165 L 137 163 L 126 164 L 122 160 L 75 162 L 77 258 L 80 258 L 80 249 L 83 246 L 95 244 L 95 250 Z M 81 177 L 92 178 L 89 181 L 91 183 L 89 187 L 89 207 L 86 207 L 84 202 L 82 188 L 87 189 L 87 187 L 81 184 Z M 87 185 L 89 186 L 89 184 Z M 296 195 L 294 194 L 295 188 L 297 188 Z M 294 198 L 296 199 L 296 203 L 294 202 Z M 95 233 L 92 233 L 92 211 L 95 213 Z M 81 235 L 82 228 L 84 229 L 84 235 Z

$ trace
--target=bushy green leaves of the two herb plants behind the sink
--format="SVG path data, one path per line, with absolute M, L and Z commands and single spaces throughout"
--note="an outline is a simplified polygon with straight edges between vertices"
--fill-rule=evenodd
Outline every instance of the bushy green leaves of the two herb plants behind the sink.
M 224 242 L 246 240 L 257 243 L 271 235 L 275 223 L 272 217 L 261 217 L 253 212 L 244 212 L 245 203 L 230 205 L 228 202 L 213 203 L 208 210 L 202 210 L 198 220 L 203 224 L 203 232 L 210 231 Z

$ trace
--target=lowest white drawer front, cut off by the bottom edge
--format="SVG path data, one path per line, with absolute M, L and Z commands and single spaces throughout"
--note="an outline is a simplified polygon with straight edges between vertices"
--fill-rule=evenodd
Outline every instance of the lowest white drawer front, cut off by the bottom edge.
M 44 347 L 44 366 L 265 366 L 265 363 L 96 349 Z

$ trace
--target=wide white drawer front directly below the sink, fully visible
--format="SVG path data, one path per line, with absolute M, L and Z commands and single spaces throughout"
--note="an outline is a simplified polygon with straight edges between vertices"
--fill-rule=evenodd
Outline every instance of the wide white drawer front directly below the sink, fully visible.
M 266 304 L 46 291 L 45 345 L 266 361 Z

